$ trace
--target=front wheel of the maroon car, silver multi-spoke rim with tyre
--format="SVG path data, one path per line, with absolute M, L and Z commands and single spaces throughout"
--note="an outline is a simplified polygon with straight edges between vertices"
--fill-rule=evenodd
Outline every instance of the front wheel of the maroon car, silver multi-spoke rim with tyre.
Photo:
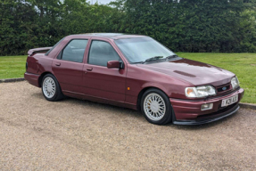
M 143 94 L 141 110 L 148 122 L 165 125 L 171 122 L 172 107 L 169 98 L 159 89 L 149 89 Z

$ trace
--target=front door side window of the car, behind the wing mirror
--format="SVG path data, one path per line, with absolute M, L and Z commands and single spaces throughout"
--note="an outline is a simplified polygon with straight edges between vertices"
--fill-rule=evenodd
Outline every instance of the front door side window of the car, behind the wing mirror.
M 119 54 L 109 43 L 94 40 L 90 48 L 88 63 L 106 67 L 108 61 L 120 61 Z

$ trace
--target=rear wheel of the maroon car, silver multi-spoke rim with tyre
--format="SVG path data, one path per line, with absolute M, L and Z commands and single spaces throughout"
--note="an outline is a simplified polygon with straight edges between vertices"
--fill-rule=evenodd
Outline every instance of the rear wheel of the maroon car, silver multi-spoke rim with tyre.
M 52 74 L 46 74 L 45 77 L 43 77 L 42 93 L 45 99 L 51 102 L 59 101 L 64 98 L 61 86 Z

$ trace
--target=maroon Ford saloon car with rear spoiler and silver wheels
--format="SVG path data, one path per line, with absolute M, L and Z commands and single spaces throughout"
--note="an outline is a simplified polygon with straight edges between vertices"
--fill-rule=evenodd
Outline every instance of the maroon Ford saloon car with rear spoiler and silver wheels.
M 83 34 L 29 50 L 25 78 L 48 101 L 64 96 L 142 110 L 158 125 L 198 125 L 232 115 L 243 98 L 235 74 L 171 52 L 151 37 Z

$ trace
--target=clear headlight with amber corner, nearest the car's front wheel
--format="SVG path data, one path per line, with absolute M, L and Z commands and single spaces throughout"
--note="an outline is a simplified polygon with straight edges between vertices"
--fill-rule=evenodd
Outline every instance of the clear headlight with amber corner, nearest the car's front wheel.
M 186 97 L 206 97 L 209 95 L 215 95 L 215 88 L 211 85 L 197 86 L 197 87 L 186 87 Z

